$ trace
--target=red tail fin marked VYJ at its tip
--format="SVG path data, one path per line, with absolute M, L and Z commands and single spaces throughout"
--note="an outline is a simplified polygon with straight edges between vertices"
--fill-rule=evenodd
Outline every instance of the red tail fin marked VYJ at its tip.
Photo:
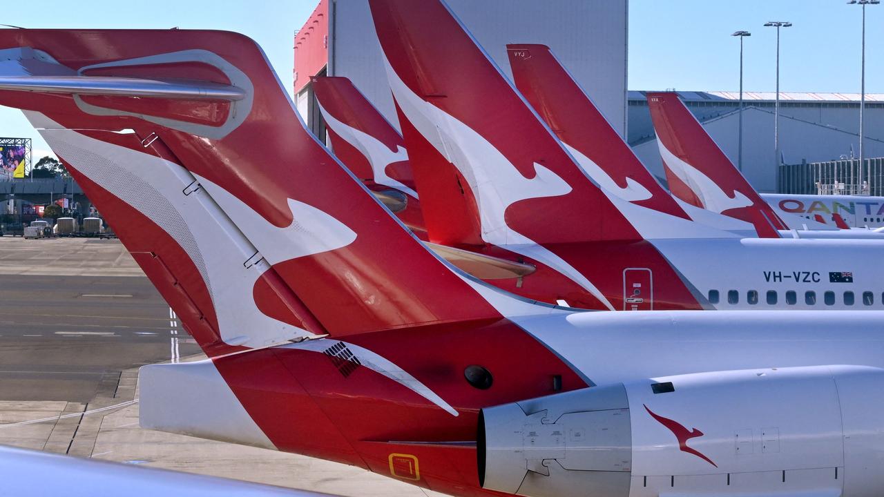
M 636 205 L 689 218 L 549 47 L 513 44 L 507 45 L 507 54 L 515 86 L 600 187 Z

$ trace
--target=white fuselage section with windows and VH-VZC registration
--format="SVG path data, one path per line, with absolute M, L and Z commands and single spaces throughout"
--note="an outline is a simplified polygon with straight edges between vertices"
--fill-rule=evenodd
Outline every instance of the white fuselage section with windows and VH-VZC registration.
M 884 310 L 876 240 L 654 240 L 716 310 Z

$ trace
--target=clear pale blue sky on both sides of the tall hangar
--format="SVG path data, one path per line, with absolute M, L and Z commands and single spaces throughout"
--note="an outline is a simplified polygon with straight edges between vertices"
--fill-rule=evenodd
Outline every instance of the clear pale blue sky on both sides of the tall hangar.
M 239 31 L 261 44 L 286 88 L 291 88 L 293 31 L 316 3 L 154 0 L 133 6 L 119 0 L 29 0 L 27 8 L 4 10 L 0 22 L 21 27 Z M 736 90 L 739 42 L 730 34 L 744 29 L 752 35 L 745 40 L 743 86 L 773 91 L 775 29 L 761 26 L 768 20 L 795 25 L 781 32 L 782 91 L 859 91 L 860 7 L 843 0 L 629 0 L 629 88 Z M 884 93 L 884 50 L 876 50 L 884 47 L 881 26 L 884 4 L 867 7 L 868 93 Z M 33 138 L 34 161 L 50 153 L 19 111 L 0 107 L 0 136 Z

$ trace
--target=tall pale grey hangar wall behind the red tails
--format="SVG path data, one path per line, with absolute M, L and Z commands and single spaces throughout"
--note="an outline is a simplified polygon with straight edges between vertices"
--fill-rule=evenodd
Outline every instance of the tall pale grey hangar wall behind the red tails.
M 625 135 L 628 0 L 446 2 L 508 77 L 512 74 L 507 43 L 550 46 L 606 118 Z M 368 1 L 331 0 L 329 10 L 327 73 L 353 80 L 395 126 Z M 469 74 L 463 77 L 469 78 Z M 299 92 L 299 109 L 309 113 L 309 105 L 304 102 L 307 97 L 305 91 Z

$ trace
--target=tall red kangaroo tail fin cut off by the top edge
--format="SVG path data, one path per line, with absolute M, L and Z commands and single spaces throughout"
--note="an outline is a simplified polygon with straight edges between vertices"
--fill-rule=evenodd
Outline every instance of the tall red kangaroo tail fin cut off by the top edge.
M 480 242 L 642 239 L 445 4 L 379 0 L 370 10 L 431 233 L 432 209 L 473 202 Z M 420 168 L 453 170 L 438 184 L 464 194 L 429 203 Z

